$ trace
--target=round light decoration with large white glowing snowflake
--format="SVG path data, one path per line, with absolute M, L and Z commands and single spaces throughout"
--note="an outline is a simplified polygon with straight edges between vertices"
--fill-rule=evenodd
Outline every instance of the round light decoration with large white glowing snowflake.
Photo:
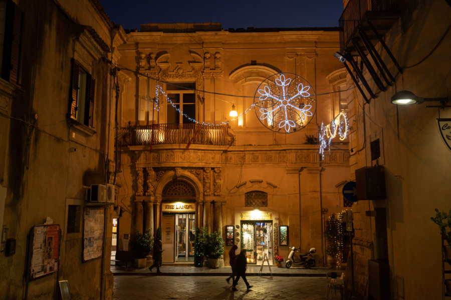
M 316 96 L 301 76 L 278 73 L 260 83 L 254 105 L 255 113 L 265 127 L 280 133 L 293 133 L 312 120 Z

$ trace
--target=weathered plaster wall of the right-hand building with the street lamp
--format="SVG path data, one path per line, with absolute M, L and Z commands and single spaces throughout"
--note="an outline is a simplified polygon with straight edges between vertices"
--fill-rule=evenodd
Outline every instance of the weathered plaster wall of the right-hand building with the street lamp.
M 385 36 L 403 67 L 415 64 L 431 51 L 448 25 L 443 20 L 451 13 L 445 1 L 412 1 L 409 5 Z M 426 108 L 426 103 L 396 106 L 390 98 L 399 90 L 410 90 L 422 97 L 449 97 L 451 39 L 448 36 L 449 33 L 424 62 L 404 68 L 403 74 L 397 75 L 395 85 L 381 92 L 370 104 L 363 104 L 361 95 L 354 91 L 349 94 L 349 107 L 356 114 L 354 129 L 357 131 L 351 136 L 354 151 L 365 145 L 366 140 L 365 148 L 351 156 L 352 177 L 355 169 L 371 165 L 370 135 L 382 129 L 384 157 L 379 163 L 385 168 L 387 199 L 359 201 L 352 208 L 356 212 L 356 237 L 367 242 L 374 241 L 375 223 L 373 217 L 365 216 L 365 211 L 374 207 L 387 210 L 390 288 L 394 299 L 400 298 L 401 290 L 405 299 L 441 297 L 441 242 L 438 228 L 430 217 L 435 215 L 434 208 L 449 210 L 451 187 L 447 178 L 451 153 L 442 141 L 436 118 L 449 118 L 451 112 L 448 107 Z M 364 118 L 366 132 L 363 132 Z M 355 250 L 365 261 L 378 255 L 372 247 Z M 429 257 L 427 264 L 424 255 Z

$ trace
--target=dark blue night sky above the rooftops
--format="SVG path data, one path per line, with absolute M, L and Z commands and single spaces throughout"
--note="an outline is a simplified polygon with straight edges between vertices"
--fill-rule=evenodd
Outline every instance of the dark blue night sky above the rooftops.
M 336 27 L 342 0 L 100 0 L 125 29 L 141 23 L 221 23 L 222 28 Z

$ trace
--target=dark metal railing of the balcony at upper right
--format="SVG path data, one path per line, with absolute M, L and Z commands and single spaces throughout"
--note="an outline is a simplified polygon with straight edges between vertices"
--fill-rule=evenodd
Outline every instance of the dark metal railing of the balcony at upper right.
M 350 0 L 338 20 L 341 51 L 367 11 L 393 11 L 397 8 L 396 0 Z

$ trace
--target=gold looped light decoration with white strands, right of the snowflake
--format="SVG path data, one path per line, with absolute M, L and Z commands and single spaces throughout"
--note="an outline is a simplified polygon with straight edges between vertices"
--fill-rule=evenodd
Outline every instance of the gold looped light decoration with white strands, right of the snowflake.
M 324 123 L 321 122 L 321 132 L 319 134 L 319 152 L 322 158 L 324 158 L 324 149 L 328 148 L 330 151 L 330 142 L 337 135 L 340 140 L 344 140 L 348 136 L 348 118 L 344 111 L 340 112 L 326 126 L 324 126 Z

